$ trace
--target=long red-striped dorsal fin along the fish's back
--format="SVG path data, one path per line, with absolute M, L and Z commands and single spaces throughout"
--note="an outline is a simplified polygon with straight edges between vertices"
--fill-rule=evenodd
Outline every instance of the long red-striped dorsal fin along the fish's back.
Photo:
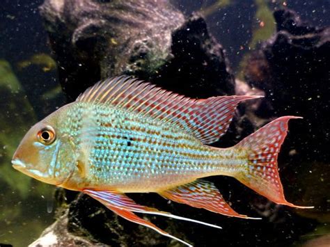
M 237 104 L 258 97 L 233 95 L 197 100 L 122 76 L 96 83 L 79 95 L 76 101 L 111 104 L 171 122 L 203 143 L 213 143 L 226 133 Z

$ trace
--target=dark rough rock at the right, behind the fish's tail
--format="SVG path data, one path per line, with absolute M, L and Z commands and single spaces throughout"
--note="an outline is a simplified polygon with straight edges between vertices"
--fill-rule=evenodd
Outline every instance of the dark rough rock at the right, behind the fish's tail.
M 284 184 L 297 186 L 290 190 L 297 193 L 288 197 L 297 201 L 318 198 L 313 202 L 315 209 L 302 212 L 316 217 L 329 209 L 330 199 L 325 189 L 330 182 L 330 28 L 311 26 L 292 10 L 277 10 L 274 17 L 277 33 L 250 57 L 246 81 L 265 91 L 259 117 L 304 118 L 290 128 L 280 163 L 285 164 L 282 169 L 288 178 Z

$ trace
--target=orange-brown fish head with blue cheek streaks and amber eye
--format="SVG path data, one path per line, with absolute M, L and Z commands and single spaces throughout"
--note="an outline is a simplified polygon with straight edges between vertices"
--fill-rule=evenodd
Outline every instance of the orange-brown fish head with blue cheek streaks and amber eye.
M 25 175 L 60 185 L 70 179 L 76 164 L 74 143 L 58 128 L 58 113 L 29 129 L 13 155 L 13 168 Z

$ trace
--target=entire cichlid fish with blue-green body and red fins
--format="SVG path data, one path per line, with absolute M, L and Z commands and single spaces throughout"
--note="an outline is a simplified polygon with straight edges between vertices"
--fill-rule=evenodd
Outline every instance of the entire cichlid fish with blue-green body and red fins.
M 228 175 L 273 202 L 300 207 L 285 200 L 277 168 L 288 120 L 298 117 L 277 118 L 231 148 L 205 145 L 226 132 L 239 102 L 258 97 L 196 100 L 130 77 L 108 79 L 31 127 L 13 167 L 42 182 L 82 191 L 119 216 L 190 246 L 134 212 L 220 227 L 137 205 L 125 193 L 155 192 L 192 207 L 249 218 L 235 212 L 212 182 L 201 180 Z

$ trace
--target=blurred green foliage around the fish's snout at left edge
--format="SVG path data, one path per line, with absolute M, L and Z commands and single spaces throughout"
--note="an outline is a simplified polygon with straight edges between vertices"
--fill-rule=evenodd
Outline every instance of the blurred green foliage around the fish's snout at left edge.
M 49 72 L 56 68 L 49 55 L 37 54 L 18 63 L 17 70 L 29 71 L 33 65 L 39 67 L 40 72 Z M 33 77 L 30 79 L 33 80 Z M 40 95 L 38 103 L 44 104 L 43 102 L 58 97 L 61 94 L 58 88 L 60 87 L 46 90 Z M 54 188 L 17 173 L 10 166 L 19 141 L 38 118 L 32 106 L 36 103 L 30 102 L 13 67 L 5 60 L 0 60 L 0 95 L 0 239 L 14 246 L 24 246 L 52 222 L 52 217 L 45 214 L 53 211 Z M 45 210 L 39 211 L 40 206 L 44 206 Z M 40 218 L 47 220 L 40 221 Z M 28 223 L 29 231 L 26 231 Z M 17 237 L 17 233 L 22 233 L 23 236 Z

